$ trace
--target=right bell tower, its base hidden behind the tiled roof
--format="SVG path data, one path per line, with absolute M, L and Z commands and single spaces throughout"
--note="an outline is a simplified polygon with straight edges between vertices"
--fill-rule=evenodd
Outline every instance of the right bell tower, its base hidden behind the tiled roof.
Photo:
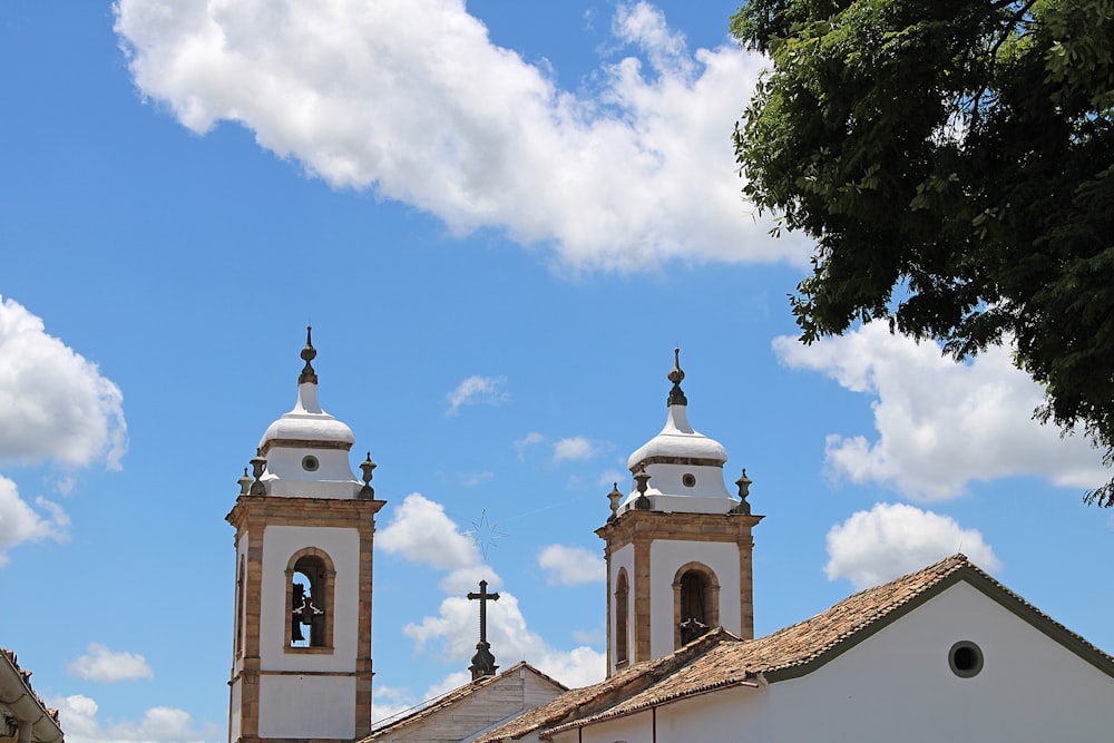
M 631 454 L 634 479 L 608 495 L 612 515 L 596 530 L 607 560 L 607 675 L 662 657 L 713 627 L 754 636 L 746 470 L 733 498 L 723 481 L 727 454 L 688 424 L 674 350 L 665 427 Z

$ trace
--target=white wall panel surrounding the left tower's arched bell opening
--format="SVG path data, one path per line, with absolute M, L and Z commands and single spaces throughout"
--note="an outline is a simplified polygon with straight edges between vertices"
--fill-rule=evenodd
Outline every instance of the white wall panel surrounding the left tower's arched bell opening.
M 336 570 L 333 592 L 333 653 L 285 653 L 286 565 L 306 547 L 325 551 Z M 354 528 L 268 526 L 263 535 L 260 664 L 267 671 L 355 669 L 360 600 L 360 534 Z

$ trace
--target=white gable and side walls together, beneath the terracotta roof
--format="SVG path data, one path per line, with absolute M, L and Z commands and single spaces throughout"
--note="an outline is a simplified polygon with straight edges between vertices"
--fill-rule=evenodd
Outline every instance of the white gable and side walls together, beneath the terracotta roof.
M 981 649 L 974 677 L 949 666 L 960 641 Z M 1112 731 L 1110 675 L 960 581 L 805 675 L 662 704 L 553 741 L 1048 743 L 1108 741 Z

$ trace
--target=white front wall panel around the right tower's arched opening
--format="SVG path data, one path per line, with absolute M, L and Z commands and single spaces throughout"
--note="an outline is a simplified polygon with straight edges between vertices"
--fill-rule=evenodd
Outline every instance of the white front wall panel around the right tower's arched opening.
M 720 584 L 720 625 L 733 633 L 742 628 L 739 598 L 739 546 L 726 541 L 675 541 L 657 539 L 649 548 L 651 636 L 653 657 L 672 653 L 673 579 L 687 563 L 710 567 Z

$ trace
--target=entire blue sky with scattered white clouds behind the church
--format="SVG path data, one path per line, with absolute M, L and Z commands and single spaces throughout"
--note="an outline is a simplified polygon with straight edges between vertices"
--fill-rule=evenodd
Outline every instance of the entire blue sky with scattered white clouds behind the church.
M 1108 472 L 1008 351 L 793 340 L 809 244 L 741 197 L 732 11 L 4 4 L 0 644 L 72 743 L 225 737 L 224 516 L 311 322 L 389 501 L 377 717 L 463 678 L 480 577 L 500 665 L 602 675 L 593 530 L 674 345 L 766 516 L 760 634 L 961 549 L 1114 649 Z

